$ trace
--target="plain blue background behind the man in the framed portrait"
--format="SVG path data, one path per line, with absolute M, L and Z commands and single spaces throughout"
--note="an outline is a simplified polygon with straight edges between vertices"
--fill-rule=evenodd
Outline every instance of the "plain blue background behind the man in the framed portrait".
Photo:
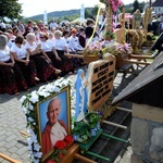
M 66 128 L 68 128 L 68 122 L 67 122 L 67 93 L 66 91 L 60 92 L 57 96 L 60 100 L 61 100 L 61 112 L 59 115 L 59 120 L 62 120 L 64 122 L 64 124 L 66 125 Z M 40 131 L 42 133 L 42 130 L 46 127 L 46 123 L 48 122 L 47 118 L 47 109 L 48 109 L 48 104 L 49 102 L 54 98 L 52 97 L 51 99 L 48 99 L 45 102 L 41 102 L 39 104 L 39 118 L 40 118 Z

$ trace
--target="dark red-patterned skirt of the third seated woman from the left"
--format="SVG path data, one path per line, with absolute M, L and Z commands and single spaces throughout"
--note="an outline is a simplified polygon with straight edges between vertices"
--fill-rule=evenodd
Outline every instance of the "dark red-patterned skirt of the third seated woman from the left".
M 55 68 L 45 59 L 41 53 L 30 55 L 30 59 L 35 61 L 37 75 L 41 82 L 55 78 Z

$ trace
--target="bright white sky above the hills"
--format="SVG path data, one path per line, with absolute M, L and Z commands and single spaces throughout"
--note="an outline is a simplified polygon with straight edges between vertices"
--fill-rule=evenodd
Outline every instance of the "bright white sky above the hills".
M 142 0 L 139 0 L 142 1 Z M 123 0 L 124 4 L 133 3 L 134 0 Z M 95 7 L 99 4 L 99 0 L 18 0 L 22 3 L 23 16 L 29 17 L 37 14 L 43 14 L 53 11 L 64 11 L 72 9 L 80 9 L 84 4 L 87 7 Z

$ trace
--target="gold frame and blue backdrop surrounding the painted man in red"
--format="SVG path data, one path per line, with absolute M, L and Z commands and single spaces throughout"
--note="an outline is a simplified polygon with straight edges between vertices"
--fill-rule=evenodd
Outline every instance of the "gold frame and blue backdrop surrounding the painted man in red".
M 64 87 L 60 92 L 54 92 L 51 96 L 43 98 L 41 101 L 36 104 L 36 115 L 38 121 L 38 140 L 41 147 L 42 152 L 42 133 L 46 127 L 46 123 L 48 122 L 47 117 L 47 109 L 48 104 L 54 100 L 59 99 L 61 101 L 61 112 L 59 115 L 59 120 L 63 122 L 66 127 L 67 135 L 71 135 L 71 99 L 70 99 L 70 87 Z M 55 130 L 55 129 L 54 129 Z M 49 150 L 47 153 L 42 154 L 41 162 L 45 162 L 50 158 L 50 155 L 54 152 L 54 148 Z

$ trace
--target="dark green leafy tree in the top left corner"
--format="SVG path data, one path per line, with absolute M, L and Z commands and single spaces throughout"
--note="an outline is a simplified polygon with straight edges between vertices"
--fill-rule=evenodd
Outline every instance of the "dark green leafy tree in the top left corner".
M 22 5 L 18 0 L 0 0 L 0 16 L 11 20 L 21 18 Z

